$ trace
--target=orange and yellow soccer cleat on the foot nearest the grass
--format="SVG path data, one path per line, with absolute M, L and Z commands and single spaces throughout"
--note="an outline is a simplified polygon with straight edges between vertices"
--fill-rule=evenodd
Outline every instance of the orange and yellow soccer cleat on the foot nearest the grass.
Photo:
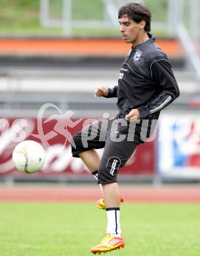
M 106 253 L 107 251 L 120 249 L 121 247 L 125 247 L 125 242 L 122 236 L 117 237 L 111 234 L 106 234 L 100 244 L 91 248 L 91 252 L 94 254 L 101 254 Z

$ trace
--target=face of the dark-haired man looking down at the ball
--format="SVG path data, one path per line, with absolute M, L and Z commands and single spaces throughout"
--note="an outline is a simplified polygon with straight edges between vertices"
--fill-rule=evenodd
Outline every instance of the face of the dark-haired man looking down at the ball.
M 127 15 L 119 18 L 120 32 L 126 43 L 134 43 L 142 30 L 142 22 L 139 24 L 131 20 Z

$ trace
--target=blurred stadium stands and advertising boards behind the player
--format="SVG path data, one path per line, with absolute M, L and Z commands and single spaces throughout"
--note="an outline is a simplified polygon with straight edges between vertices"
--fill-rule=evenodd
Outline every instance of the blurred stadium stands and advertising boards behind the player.
M 70 128 L 73 134 L 85 119 L 117 114 L 116 99 L 94 98 L 94 91 L 117 84 L 129 52 L 117 20 L 127 2 L 0 0 L 1 182 L 94 182 L 71 158 L 65 120 L 83 118 Z M 151 9 L 151 33 L 169 56 L 181 95 L 163 110 L 157 138 L 138 146 L 119 179 L 199 182 L 200 0 L 138 2 Z M 47 151 L 45 166 L 34 175 L 22 175 L 12 163 L 12 150 L 24 139 L 43 142 Z

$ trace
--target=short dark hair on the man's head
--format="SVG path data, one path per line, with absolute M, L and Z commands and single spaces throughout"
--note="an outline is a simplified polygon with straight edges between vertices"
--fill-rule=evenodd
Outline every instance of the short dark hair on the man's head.
M 146 22 L 144 30 L 146 32 L 151 31 L 151 11 L 144 5 L 140 3 L 127 3 L 119 9 L 118 18 L 121 18 L 123 15 L 128 16 L 136 23 L 144 20 Z

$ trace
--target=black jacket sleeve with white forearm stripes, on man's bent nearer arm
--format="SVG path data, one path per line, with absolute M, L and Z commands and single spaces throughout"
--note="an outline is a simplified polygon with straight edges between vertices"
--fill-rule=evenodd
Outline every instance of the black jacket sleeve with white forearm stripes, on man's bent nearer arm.
M 167 59 L 151 60 L 150 72 L 153 81 L 158 86 L 158 94 L 146 106 L 138 108 L 140 119 L 145 119 L 150 114 L 163 110 L 180 95 L 178 84 Z

